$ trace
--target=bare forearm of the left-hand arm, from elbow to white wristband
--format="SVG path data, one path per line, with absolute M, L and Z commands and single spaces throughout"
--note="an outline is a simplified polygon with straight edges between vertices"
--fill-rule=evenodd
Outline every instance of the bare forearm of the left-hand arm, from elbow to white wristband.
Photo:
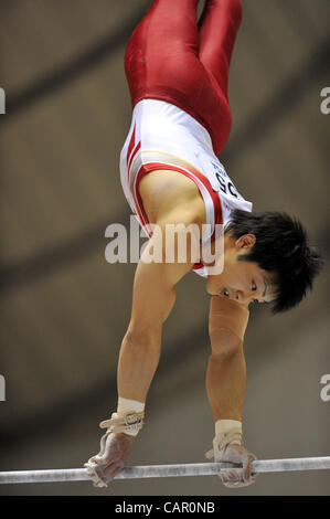
M 158 367 L 161 329 L 148 332 L 127 331 L 121 342 L 118 361 L 118 395 L 146 402 Z

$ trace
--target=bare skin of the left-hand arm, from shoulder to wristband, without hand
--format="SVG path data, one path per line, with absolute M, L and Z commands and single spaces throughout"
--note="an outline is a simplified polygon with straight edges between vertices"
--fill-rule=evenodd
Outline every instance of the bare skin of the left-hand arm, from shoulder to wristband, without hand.
M 148 248 L 155 246 L 152 237 Z M 138 264 L 132 310 L 118 363 L 118 395 L 145 402 L 156 372 L 161 348 L 162 326 L 175 301 L 175 284 L 191 264 Z

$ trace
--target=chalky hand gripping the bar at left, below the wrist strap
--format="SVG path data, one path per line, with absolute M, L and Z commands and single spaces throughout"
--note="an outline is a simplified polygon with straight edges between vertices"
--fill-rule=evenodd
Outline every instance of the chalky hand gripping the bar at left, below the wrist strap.
M 107 433 L 100 438 L 100 451 L 84 464 L 94 487 L 107 487 L 124 468 L 131 453 L 135 436 L 125 433 Z

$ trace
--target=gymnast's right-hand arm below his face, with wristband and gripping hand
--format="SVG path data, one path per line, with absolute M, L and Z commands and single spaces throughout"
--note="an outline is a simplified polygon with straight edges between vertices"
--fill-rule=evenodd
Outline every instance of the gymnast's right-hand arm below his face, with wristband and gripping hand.
M 213 456 L 217 462 L 237 463 L 239 473 L 221 469 L 226 487 L 251 485 L 255 455 L 242 444 L 242 415 L 245 394 L 245 358 L 243 340 L 248 321 L 248 306 L 213 296 L 209 332 L 212 352 L 206 372 L 206 391 L 215 422 Z M 209 457 L 209 453 L 207 453 Z

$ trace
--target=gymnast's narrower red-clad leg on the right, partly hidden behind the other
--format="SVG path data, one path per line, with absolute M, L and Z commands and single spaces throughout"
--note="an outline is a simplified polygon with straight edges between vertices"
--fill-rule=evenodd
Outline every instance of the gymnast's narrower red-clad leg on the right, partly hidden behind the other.
M 239 0 L 206 0 L 199 23 L 200 60 L 226 98 L 231 56 L 241 20 Z

